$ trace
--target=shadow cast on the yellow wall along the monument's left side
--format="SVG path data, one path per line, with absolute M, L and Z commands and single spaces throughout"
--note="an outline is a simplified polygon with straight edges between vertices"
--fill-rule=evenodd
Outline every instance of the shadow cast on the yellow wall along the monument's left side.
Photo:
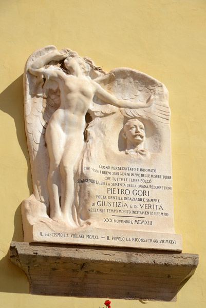
M 24 100 L 23 95 L 23 74 L 18 77 L 10 86 L 0 93 L 0 109 L 8 113 L 13 119 L 16 127 L 16 136 L 18 143 L 24 153 L 27 161 L 28 173 L 27 182 L 32 193 L 32 180 L 29 154 L 26 143 L 26 134 L 24 129 Z M 14 234 L 12 241 L 23 241 L 21 205 L 19 205 L 14 215 Z M 20 268 L 9 261 L 9 253 L 0 261 L 0 292 L 8 293 L 29 293 L 29 284 Z M 5 279 L 4 279 L 5 277 Z

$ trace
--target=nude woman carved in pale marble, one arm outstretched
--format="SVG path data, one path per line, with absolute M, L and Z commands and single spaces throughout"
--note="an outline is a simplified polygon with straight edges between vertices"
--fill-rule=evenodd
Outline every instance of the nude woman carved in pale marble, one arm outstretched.
M 64 60 L 68 74 L 52 65 L 45 68 L 52 60 Z M 79 225 L 73 209 L 74 165 L 84 146 L 85 115 L 93 97 L 96 95 L 103 102 L 120 108 L 152 105 L 152 96 L 145 104 L 118 100 L 89 78 L 89 69 L 80 56 L 71 57 L 66 51 L 57 50 L 42 56 L 29 68 L 31 74 L 57 82 L 60 89 L 61 104 L 52 114 L 45 134 L 50 158 L 47 185 L 50 218 L 70 227 Z

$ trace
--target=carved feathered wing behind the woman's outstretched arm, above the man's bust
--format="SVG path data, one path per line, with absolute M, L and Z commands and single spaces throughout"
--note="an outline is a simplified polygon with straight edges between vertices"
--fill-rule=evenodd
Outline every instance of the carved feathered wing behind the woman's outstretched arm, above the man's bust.
M 168 91 L 166 87 L 151 76 L 130 68 L 116 68 L 105 76 L 95 80 L 106 91 L 115 95 L 120 100 L 130 102 L 146 103 L 151 94 L 154 102 L 146 108 L 121 108 L 120 111 L 125 117 L 152 118 L 161 123 L 170 121 L 170 108 L 168 107 Z M 115 112 L 117 107 L 102 105 L 98 102 L 93 107 L 95 114 L 100 116 Z

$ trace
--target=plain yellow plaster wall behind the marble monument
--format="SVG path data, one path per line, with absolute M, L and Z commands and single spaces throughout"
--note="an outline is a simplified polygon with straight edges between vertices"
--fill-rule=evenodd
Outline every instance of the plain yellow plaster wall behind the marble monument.
M 183 252 L 198 253 L 200 263 L 176 303 L 113 299 L 111 307 L 204 308 L 205 0 L 2 0 L 0 37 L 0 307 L 98 308 L 104 302 L 30 295 L 26 277 L 8 261 L 11 240 L 22 241 L 20 204 L 32 189 L 22 74 L 28 56 L 52 44 L 88 55 L 107 71 L 143 71 L 170 93 L 175 227 Z

